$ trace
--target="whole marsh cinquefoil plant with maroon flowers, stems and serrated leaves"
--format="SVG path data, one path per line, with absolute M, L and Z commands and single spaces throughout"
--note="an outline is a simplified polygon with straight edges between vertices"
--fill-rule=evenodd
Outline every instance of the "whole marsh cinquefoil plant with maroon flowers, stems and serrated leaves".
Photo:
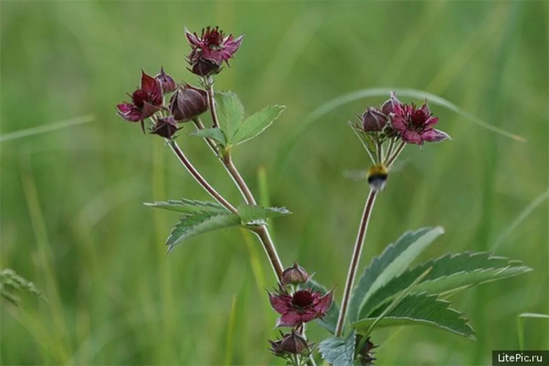
M 236 93 L 214 92 L 215 76 L 234 57 L 242 36 L 225 36 L 219 27 L 208 27 L 200 36 L 186 31 L 186 37 L 191 45 L 189 71 L 198 76 L 200 87 L 188 83 L 176 85 L 163 69 L 154 77 L 142 72 L 141 87 L 131 94 L 131 102 L 117 105 L 123 119 L 139 122 L 143 131 L 148 128 L 150 133 L 162 137 L 214 199 L 147 204 L 182 216 L 167 238 L 168 249 L 215 229 L 242 227 L 253 232 L 264 247 L 276 278 L 275 290 L 268 292 L 273 309 L 279 313 L 275 325 L 285 329 L 278 339 L 269 341 L 270 350 L 289 364 L 315 364 L 320 357 L 334 365 L 371 364 L 377 347 L 371 340 L 372 332 L 393 325 L 426 325 L 474 339 L 472 326 L 450 307 L 446 297 L 473 285 L 528 272 L 530 268 L 485 252 L 447 254 L 408 268 L 444 232 L 441 227 L 421 228 L 404 233 L 388 245 L 382 254 L 373 258 L 355 284 L 368 221 L 377 195 L 388 182 L 391 166 L 407 145 L 449 139 L 446 133 L 434 128 L 438 119 L 432 115 L 427 101 L 421 106 L 405 104 L 392 93 L 383 105 L 367 108 L 358 122 L 349 122 L 366 149 L 365 161 L 369 156 L 372 166 L 368 172 L 369 193 L 343 298 L 338 305 L 333 300 L 333 291 L 318 284 L 298 263 L 284 268 L 267 219 L 287 216 L 290 211 L 285 207 L 258 206 L 232 160 L 232 150 L 264 132 L 284 106 L 268 105 L 245 116 Z M 211 121 L 208 127 L 201 120 L 206 112 Z M 233 205 L 217 192 L 176 143 L 178 131 L 188 125 L 194 125 L 190 134 L 204 139 L 231 176 L 243 202 Z M 313 320 L 330 333 L 317 347 L 306 336 L 307 323 Z

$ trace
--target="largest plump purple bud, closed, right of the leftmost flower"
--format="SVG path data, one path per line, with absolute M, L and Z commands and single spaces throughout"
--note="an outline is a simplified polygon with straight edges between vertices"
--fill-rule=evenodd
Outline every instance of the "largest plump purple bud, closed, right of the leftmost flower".
M 191 121 L 208 110 L 208 93 L 185 84 L 170 98 L 170 111 L 177 122 Z

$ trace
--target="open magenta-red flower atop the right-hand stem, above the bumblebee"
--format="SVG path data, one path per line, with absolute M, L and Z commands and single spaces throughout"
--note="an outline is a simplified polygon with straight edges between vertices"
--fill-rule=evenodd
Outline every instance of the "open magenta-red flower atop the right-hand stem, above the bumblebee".
M 396 98 L 395 98 L 396 99 Z M 400 132 L 402 141 L 409 144 L 423 145 L 423 142 L 441 142 L 450 138 L 445 132 L 434 129 L 438 117 L 434 117 L 427 100 L 417 108 L 415 104 L 395 103 L 391 114 L 391 124 L 395 131 Z

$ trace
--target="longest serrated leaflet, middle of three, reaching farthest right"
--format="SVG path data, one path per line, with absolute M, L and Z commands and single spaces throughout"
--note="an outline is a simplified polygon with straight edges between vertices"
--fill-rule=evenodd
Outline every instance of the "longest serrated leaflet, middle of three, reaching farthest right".
M 414 292 L 446 294 L 457 289 L 531 271 L 519 262 L 509 261 L 508 258 L 503 257 L 492 257 L 486 252 L 447 254 L 420 264 L 390 280 L 369 297 L 362 306 L 359 317 L 367 317 L 376 307 L 393 299 L 427 268 L 432 268 L 432 271 L 414 288 Z

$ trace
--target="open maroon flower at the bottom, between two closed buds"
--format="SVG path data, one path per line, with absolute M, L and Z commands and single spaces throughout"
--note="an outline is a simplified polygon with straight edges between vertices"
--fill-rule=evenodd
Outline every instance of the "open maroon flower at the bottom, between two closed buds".
M 282 314 L 276 326 L 296 326 L 323 318 L 332 305 L 332 291 L 322 295 L 312 289 L 299 290 L 293 295 L 269 294 L 271 306 Z

